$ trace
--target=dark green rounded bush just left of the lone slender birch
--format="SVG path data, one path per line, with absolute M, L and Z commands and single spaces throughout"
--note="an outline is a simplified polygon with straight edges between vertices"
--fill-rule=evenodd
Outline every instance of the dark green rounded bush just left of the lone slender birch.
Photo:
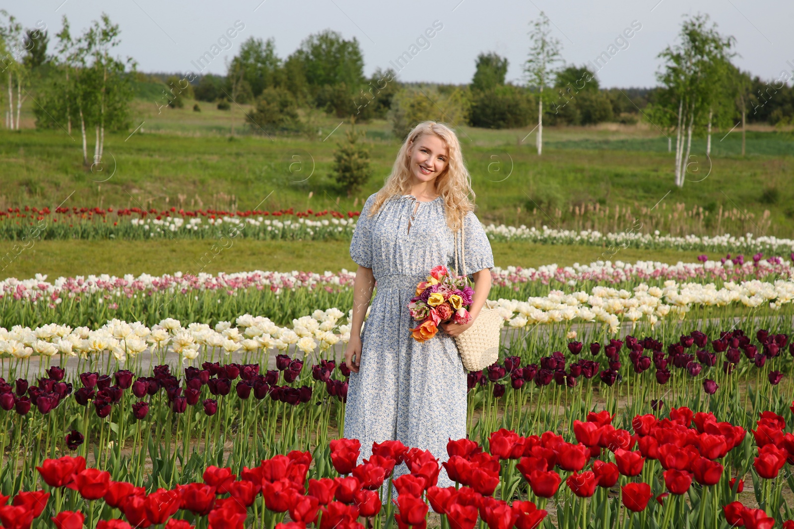
M 488 129 L 515 129 L 538 118 L 534 97 L 521 87 L 497 85 L 472 95 L 468 122 Z

